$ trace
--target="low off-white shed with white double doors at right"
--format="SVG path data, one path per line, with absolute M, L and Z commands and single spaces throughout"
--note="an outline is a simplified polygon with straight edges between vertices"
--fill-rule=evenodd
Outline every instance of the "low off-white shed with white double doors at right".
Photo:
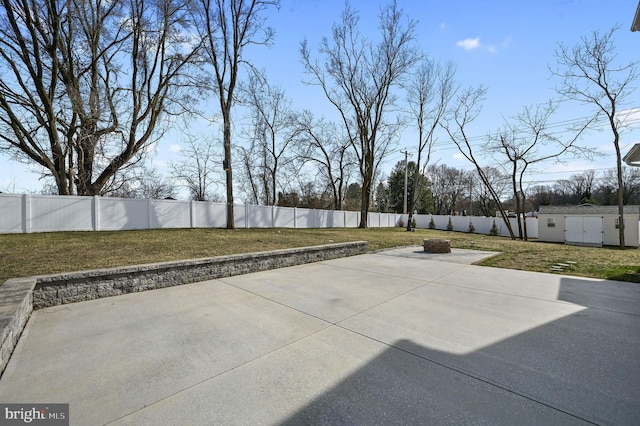
M 640 242 L 640 206 L 624 206 L 624 241 L 629 247 Z M 618 206 L 540 206 L 540 241 L 580 246 L 617 246 Z

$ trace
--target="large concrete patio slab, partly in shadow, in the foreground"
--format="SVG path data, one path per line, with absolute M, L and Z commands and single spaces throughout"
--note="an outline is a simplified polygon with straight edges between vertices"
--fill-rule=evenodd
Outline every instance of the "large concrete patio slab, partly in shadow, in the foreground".
M 638 424 L 640 285 L 400 249 L 35 311 L 72 425 Z

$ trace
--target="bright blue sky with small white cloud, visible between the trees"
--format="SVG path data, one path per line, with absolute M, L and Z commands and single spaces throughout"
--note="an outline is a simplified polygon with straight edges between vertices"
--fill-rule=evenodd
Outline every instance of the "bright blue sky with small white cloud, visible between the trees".
M 376 37 L 377 16 L 387 1 L 352 0 L 351 5 L 361 13 L 361 31 Z M 293 107 L 309 108 L 317 114 L 333 114 L 319 88 L 305 86 L 299 45 L 308 40 L 312 52 L 322 36 L 329 35 L 331 25 L 340 18 L 343 0 L 282 0 L 279 11 L 268 14 L 268 25 L 276 32 L 270 49 L 258 49 L 247 58 L 265 68 L 272 84 L 284 88 Z M 553 88 L 558 84 L 551 78 L 549 67 L 554 65 L 554 51 L 558 42 L 572 46 L 581 36 L 593 30 L 607 31 L 620 25 L 616 33 L 616 52 L 622 63 L 640 59 L 640 32 L 629 28 L 637 0 L 398 0 L 398 5 L 412 19 L 420 47 L 440 61 L 453 61 L 457 66 L 456 79 L 463 85 L 484 84 L 488 87 L 480 117 L 470 128 L 474 137 L 485 136 L 503 125 L 503 117 L 510 117 L 526 105 L 557 98 Z M 636 81 L 635 86 L 640 84 Z M 640 108 L 640 91 L 634 93 L 627 108 Z M 589 105 L 563 105 L 552 122 L 586 117 Z M 640 117 L 639 117 L 640 118 Z M 636 130 L 623 135 L 623 153 L 634 143 L 640 143 L 640 122 Z M 395 153 L 384 163 L 387 173 L 403 158 L 400 151 L 415 151 L 414 136 L 407 129 Z M 175 137 L 162 141 L 155 149 L 153 164 L 160 172 L 176 158 L 179 141 Z M 570 160 L 566 164 L 546 164 L 530 175 L 533 182 L 550 184 L 587 169 L 615 167 L 615 155 L 609 133 L 593 133 L 584 141 L 603 154 L 595 161 Z M 440 135 L 432 162 L 471 169 L 460 158 L 455 147 Z M 491 160 L 486 160 L 491 165 Z M 0 156 L 0 191 L 38 191 L 42 182 L 20 163 Z

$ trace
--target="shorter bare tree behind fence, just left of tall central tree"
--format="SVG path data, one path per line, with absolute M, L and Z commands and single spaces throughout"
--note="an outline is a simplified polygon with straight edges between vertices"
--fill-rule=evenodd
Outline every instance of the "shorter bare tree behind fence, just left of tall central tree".
M 342 203 L 356 165 L 349 139 L 341 135 L 334 123 L 316 119 L 311 111 L 297 115 L 299 158 L 317 167 L 321 181 L 331 192 L 332 207 L 342 210 Z

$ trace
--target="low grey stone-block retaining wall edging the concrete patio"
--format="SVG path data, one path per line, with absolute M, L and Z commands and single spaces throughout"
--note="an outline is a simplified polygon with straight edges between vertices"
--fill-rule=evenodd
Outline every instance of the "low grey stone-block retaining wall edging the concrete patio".
M 366 251 L 366 241 L 356 241 L 7 280 L 0 286 L 0 374 L 33 309 L 354 256 Z

